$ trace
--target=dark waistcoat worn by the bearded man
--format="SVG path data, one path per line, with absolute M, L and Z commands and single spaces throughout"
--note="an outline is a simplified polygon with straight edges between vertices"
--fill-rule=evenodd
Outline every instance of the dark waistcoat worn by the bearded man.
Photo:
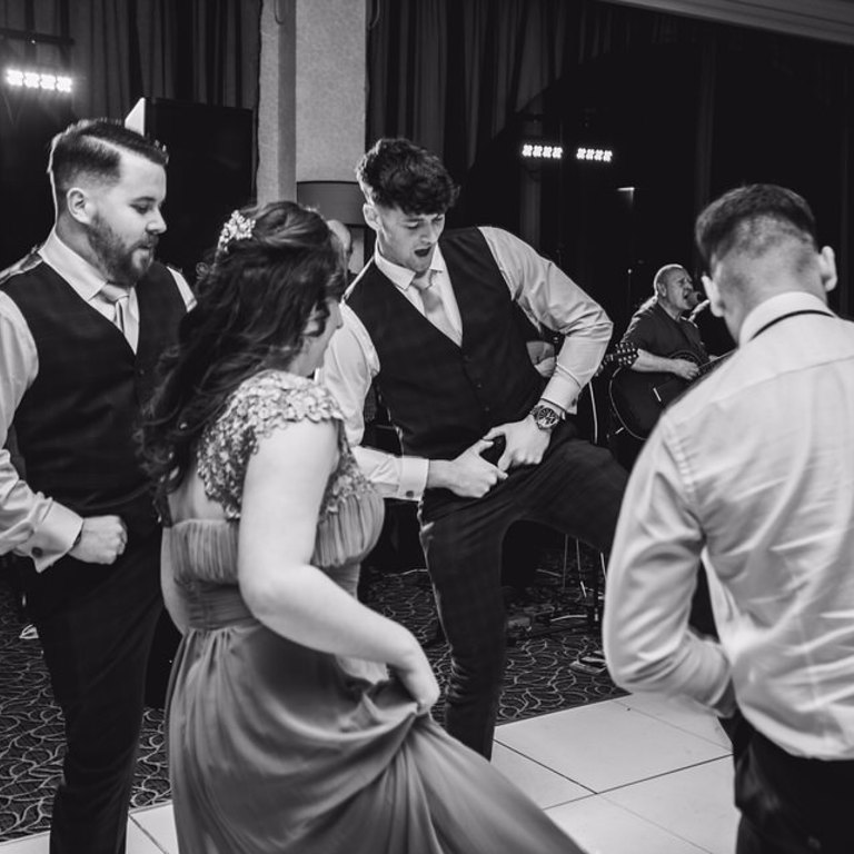
M 149 488 L 133 430 L 185 312 L 171 274 L 155 264 L 137 284 L 136 355 L 47 264 L 12 276 L 2 290 L 27 320 L 39 358 L 14 416 L 28 485 L 81 516 L 118 513 L 129 527 L 143 523 Z

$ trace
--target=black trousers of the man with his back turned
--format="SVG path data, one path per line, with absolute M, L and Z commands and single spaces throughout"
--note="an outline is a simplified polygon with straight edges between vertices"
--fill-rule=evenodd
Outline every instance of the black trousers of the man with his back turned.
M 792 756 L 743 718 L 738 728 L 736 854 L 852 854 L 854 759 Z

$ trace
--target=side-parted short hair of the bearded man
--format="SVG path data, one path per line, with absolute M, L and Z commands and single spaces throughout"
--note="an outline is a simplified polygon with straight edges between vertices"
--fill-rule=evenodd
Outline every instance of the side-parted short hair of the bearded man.
M 166 167 L 166 148 L 116 119 L 82 119 L 50 142 L 48 173 L 57 199 L 81 178 L 107 183 L 119 180 L 121 155 L 132 152 Z

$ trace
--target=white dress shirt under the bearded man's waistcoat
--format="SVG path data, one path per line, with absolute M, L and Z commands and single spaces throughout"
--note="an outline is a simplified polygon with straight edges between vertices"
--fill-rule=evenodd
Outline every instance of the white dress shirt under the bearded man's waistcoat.
M 106 284 L 103 277 L 66 246 L 54 230 L 39 249 L 39 255 L 81 299 L 112 320 L 113 306 L 98 296 Z M 179 272 L 169 271 L 190 307 L 193 297 L 189 285 Z M 128 344 L 136 352 L 139 337 L 136 289 L 131 289 L 128 310 L 137 321 L 128 330 Z M 32 491 L 18 476 L 9 451 L 2 447 L 18 405 L 38 373 L 39 357 L 32 332 L 14 301 L 0 292 L 0 554 L 13 549 L 32 557 L 36 569 L 41 572 L 69 552 L 82 519 L 50 496 Z

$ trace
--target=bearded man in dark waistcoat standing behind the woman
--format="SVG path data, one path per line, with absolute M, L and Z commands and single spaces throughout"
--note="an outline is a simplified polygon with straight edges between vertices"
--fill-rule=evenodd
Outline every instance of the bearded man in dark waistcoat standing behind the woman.
M 24 594 L 67 749 L 51 854 L 117 854 L 162 612 L 160 525 L 133 440 L 192 296 L 155 260 L 167 155 L 106 119 L 51 142 L 54 227 L 0 284 L 0 553 Z

